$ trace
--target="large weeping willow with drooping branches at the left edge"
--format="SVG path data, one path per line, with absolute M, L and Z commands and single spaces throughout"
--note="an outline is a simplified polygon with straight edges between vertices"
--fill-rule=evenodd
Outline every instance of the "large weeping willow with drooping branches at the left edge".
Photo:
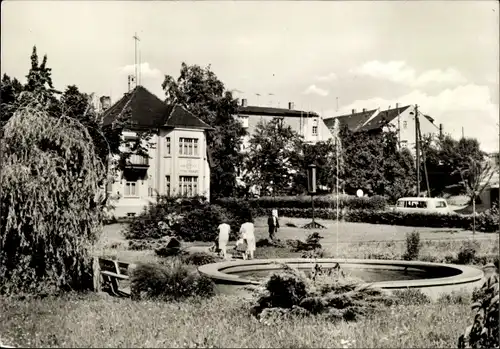
M 105 169 L 86 128 L 24 106 L 0 147 L 0 293 L 92 287 Z

